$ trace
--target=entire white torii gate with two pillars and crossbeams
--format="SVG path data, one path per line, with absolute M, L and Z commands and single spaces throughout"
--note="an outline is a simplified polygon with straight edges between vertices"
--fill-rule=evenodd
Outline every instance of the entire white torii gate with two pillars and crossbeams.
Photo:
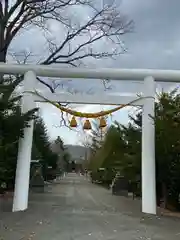
M 162 82 L 180 82 L 180 71 L 151 69 L 88 69 L 88 68 L 57 68 L 43 65 L 11 65 L 0 64 L 0 73 L 24 74 L 24 90 L 36 88 L 36 76 L 82 79 L 142 80 L 144 81 L 143 96 L 134 105 L 143 107 L 142 116 L 142 212 L 156 214 L 156 183 L 155 183 L 155 131 L 152 117 L 154 116 L 155 80 Z M 87 79 L 86 79 L 87 80 Z M 126 104 L 135 99 L 129 96 L 86 96 L 71 94 L 45 94 L 48 99 L 59 102 L 118 105 Z M 24 93 L 22 112 L 35 107 L 38 97 Z M 150 116 L 151 117 L 150 117 Z M 29 173 L 33 138 L 33 120 L 30 127 L 24 129 L 24 138 L 19 140 L 16 169 L 13 212 L 23 211 L 28 207 Z

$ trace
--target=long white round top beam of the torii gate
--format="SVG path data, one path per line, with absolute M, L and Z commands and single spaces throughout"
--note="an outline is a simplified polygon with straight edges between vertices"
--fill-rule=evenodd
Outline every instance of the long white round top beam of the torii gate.
M 143 80 L 152 76 L 160 82 L 180 82 L 180 70 L 156 69 L 117 69 L 117 68 L 61 68 L 59 66 L 29 65 L 29 64 L 0 64 L 0 73 L 24 74 L 33 71 L 37 76 L 56 78 L 84 78 L 111 80 Z

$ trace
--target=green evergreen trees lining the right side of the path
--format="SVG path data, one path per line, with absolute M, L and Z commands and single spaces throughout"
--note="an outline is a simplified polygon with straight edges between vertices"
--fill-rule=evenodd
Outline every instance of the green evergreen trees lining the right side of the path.
M 180 94 L 162 92 L 155 103 L 155 156 L 157 204 L 180 209 Z M 134 183 L 141 195 L 142 110 L 122 125 L 115 121 L 103 138 L 93 130 L 88 167 L 92 178 L 110 184 L 116 173 Z M 105 171 L 98 171 L 103 168 Z

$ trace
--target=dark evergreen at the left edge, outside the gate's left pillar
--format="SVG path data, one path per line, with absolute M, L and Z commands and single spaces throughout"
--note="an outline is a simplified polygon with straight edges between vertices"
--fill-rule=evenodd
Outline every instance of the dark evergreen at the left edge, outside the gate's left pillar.
M 5 182 L 8 187 L 14 184 L 19 137 L 23 137 L 23 129 L 36 118 L 37 111 L 21 113 L 21 96 L 14 94 L 20 82 L 21 79 L 16 79 L 0 84 L 0 185 Z

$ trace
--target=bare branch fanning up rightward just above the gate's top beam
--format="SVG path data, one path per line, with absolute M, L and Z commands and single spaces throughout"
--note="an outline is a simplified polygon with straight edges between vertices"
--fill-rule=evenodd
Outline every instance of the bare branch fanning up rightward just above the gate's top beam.
M 110 14 L 108 14 L 108 12 L 110 12 Z M 115 20 L 118 21 L 118 27 L 115 25 Z M 88 57 L 99 59 L 122 54 L 126 49 L 124 48 L 120 37 L 121 35 L 130 32 L 132 26 L 133 22 L 128 21 L 124 16 L 118 16 L 113 7 L 106 7 L 97 12 L 85 24 L 79 25 L 77 28 L 69 28 L 64 41 L 58 47 L 56 45 L 54 51 L 42 62 L 42 64 L 61 63 L 78 66 L 78 64 L 76 64 L 78 60 Z M 88 39 L 77 45 L 72 51 L 69 51 L 66 54 L 61 54 L 67 44 L 71 44 L 71 41 L 76 39 L 79 35 L 86 36 Z M 106 52 L 96 52 L 93 48 L 93 43 L 102 39 L 113 42 L 116 45 L 116 48 L 112 50 L 110 49 Z M 52 42 L 51 44 L 55 45 Z

